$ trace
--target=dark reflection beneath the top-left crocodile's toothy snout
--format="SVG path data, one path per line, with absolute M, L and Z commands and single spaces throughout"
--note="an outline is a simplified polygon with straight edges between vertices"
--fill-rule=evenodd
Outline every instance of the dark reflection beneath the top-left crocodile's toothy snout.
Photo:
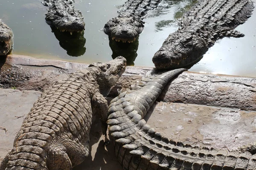
M 85 53 L 86 48 L 84 47 L 86 39 L 84 38 L 84 31 L 73 32 L 61 32 L 56 27 L 51 27 L 52 32 L 58 39 L 61 47 L 67 51 L 67 54 L 73 57 L 81 56 Z

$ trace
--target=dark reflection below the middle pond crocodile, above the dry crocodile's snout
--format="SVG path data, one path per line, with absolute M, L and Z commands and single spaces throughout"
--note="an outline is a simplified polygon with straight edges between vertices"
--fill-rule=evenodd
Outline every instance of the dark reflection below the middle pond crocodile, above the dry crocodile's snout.
M 139 36 L 133 43 L 128 42 L 116 42 L 109 36 L 109 46 L 113 52 L 112 58 L 115 59 L 118 56 L 125 57 L 127 60 L 126 65 L 134 65 L 134 61 L 137 57 L 137 50 L 139 46 Z

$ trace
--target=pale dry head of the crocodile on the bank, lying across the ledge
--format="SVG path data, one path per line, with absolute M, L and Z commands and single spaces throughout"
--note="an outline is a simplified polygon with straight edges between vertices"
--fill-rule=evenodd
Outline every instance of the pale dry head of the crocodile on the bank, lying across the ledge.
M 109 62 L 96 62 L 89 65 L 89 67 L 99 68 L 100 73 L 97 77 L 100 80 L 98 80 L 98 83 L 99 86 L 103 85 L 104 87 L 115 85 L 125 71 L 125 66 L 126 59 L 121 56 L 116 57 Z

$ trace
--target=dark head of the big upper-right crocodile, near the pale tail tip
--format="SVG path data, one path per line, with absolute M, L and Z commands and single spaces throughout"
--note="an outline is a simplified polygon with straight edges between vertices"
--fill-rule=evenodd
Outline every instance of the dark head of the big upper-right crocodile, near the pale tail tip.
M 207 42 L 203 38 L 192 33 L 186 37 L 173 33 L 163 42 L 152 61 L 158 70 L 183 68 L 198 61 L 207 50 Z

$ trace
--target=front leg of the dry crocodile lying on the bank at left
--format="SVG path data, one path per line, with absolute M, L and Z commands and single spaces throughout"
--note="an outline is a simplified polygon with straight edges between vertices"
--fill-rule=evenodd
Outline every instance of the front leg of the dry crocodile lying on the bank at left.
M 102 94 L 96 92 L 92 98 L 92 106 L 102 122 L 102 133 L 107 136 L 108 124 L 106 122 L 108 120 L 108 101 Z

